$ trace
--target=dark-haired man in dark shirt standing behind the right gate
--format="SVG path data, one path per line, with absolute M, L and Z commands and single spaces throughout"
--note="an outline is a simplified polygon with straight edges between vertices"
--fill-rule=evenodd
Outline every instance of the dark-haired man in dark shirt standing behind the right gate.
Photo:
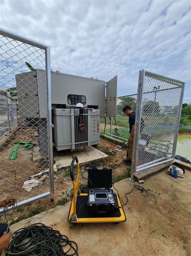
M 133 138 L 135 132 L 135 111 L 131 109 L 131 106 L 125 106 L 122 110 L 126 116 L 129 117 L 129 139 L 127 142 L 127 160 L 123 160 L 126 164 L 131 165 L 132 153 L 133 153 Z

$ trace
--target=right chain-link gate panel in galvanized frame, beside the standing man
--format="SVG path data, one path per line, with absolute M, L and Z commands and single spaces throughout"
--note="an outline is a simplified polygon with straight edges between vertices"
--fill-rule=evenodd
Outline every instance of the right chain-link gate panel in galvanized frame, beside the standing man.
M 174 159 L 184 82 L 139 72 L 133 144 L 133 173 Z M 141 123 L 145 127 L 141 129 Z

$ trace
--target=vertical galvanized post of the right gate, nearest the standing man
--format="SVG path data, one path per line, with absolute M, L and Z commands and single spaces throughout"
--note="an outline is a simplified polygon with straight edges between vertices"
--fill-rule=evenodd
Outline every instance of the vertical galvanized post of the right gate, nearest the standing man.
M 135 133 L 133 141 L 133 155 L 131 164 L 131 178 L 130 181 L 134 181 L 133 175 L 137 171 L 137 157 L 139 148 L 139 133 L 141 126 L 141 113 L 142 113 L 142 101 L 143 101 L 143 87 L 144 87 L 145 71 L 139 71 L 138 89 L 137 89 L 137 106 L 135 115 Z

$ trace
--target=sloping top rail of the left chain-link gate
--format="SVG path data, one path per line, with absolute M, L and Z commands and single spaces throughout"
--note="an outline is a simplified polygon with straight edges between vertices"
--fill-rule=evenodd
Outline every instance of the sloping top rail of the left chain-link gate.
M 19 34 L 13 33 L 11 31 L 8 31 L 8 30 L 2 29 L 2 28 L 0 28 L 0 35 L 4 35 L 5 37 L 9 37 L 14 40 L 18 40 L 20 42 L 23 42 L 24 44 L 30 44 L 32 46 L 42 48 L 44 50 L 46 50 L 49 47 L 46 44 L 41 44 L 35 40 L 29 39 L 28 37 L 24 37 L 23 35 L 19 35 Z

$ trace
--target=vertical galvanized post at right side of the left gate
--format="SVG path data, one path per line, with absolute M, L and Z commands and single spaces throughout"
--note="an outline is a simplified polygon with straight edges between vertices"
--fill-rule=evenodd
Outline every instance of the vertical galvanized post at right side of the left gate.
M 49 155 L 49 172 L 50 172 L 50 193 L 54 194 L 54 159 L 52 147 L 52 103 L 51 103 L 51 74 L 50 74 L 50 46 L 45 50 L 46 62 L 46 87 L 47 87 L 47 102 L 48 102 L 48 155 Z

